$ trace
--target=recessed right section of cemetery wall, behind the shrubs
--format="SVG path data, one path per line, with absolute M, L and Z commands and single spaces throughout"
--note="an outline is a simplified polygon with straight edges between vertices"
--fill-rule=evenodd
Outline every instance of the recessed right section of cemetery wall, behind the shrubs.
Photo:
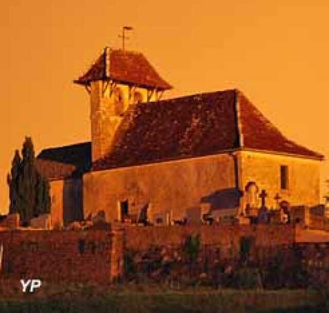
M 244 241 L 250 241 L 250 259 L 258 264 L 268 263 L 280 249 L 289 249 L 295 242 L 295 228 L 288 225 L 126 227 L 126 253 L 138 269 L 184 260 L 182 247 L 191 234 L 201 236 L 201 267 L 239 262 Z

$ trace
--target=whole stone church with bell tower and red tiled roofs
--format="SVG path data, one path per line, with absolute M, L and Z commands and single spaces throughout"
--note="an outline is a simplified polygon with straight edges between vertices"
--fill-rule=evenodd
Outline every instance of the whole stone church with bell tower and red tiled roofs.
M 91 141 L 37 160 L 54 227 L 99 213 L 171 225 L 319 204 L 323 156 L 288 140 L 239 90 L 161 100 L 172 86 L 143 54 L 109 48 L 74 83 L 89 94 Z

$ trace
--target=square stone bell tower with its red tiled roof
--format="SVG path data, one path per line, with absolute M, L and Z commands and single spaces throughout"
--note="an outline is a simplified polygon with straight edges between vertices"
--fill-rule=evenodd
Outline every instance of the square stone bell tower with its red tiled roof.
M 142 53 L 107 47 L 74 82 L 85 86 L 90 96 L 93 162 L 111 152 L 116 130 L 129 106 L 158 101 L 165 90 L 172 88 Z

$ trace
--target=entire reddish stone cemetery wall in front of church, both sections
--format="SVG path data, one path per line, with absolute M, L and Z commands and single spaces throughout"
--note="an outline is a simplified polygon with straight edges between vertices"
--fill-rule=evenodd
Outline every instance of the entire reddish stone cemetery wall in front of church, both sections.
M 129 273 L 129 266 L 137 273 L 146 271 L 159 277 L 165 276 L 162 271 L 168 266 L 189 266 L 182 248 L 189 235 L 200 235 L 202 247 L 195 268 L 201 272 L 241 261 L 246 243 L 249 260 L 261 264 L 280 249 L 293 246 L 295 241 L 295 228 L 288 225 L 120 225 L 120 228 L 2 231 L 0 245 L 4 255 L 0 274 L 17 281 L 104 284 L 123 275 L 124 270 Z

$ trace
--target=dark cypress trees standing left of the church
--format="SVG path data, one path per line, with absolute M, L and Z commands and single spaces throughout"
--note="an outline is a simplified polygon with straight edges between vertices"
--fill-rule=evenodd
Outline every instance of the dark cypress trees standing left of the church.
M 20 213 L 23 225 L 28 225 L 34 216 L 50 212 L 49 183 L 36 170 L 30 137 L 26 137 L 23 143 L 22 158 L 18 151 L 15 152 L 7 181 L 9 212 Z

